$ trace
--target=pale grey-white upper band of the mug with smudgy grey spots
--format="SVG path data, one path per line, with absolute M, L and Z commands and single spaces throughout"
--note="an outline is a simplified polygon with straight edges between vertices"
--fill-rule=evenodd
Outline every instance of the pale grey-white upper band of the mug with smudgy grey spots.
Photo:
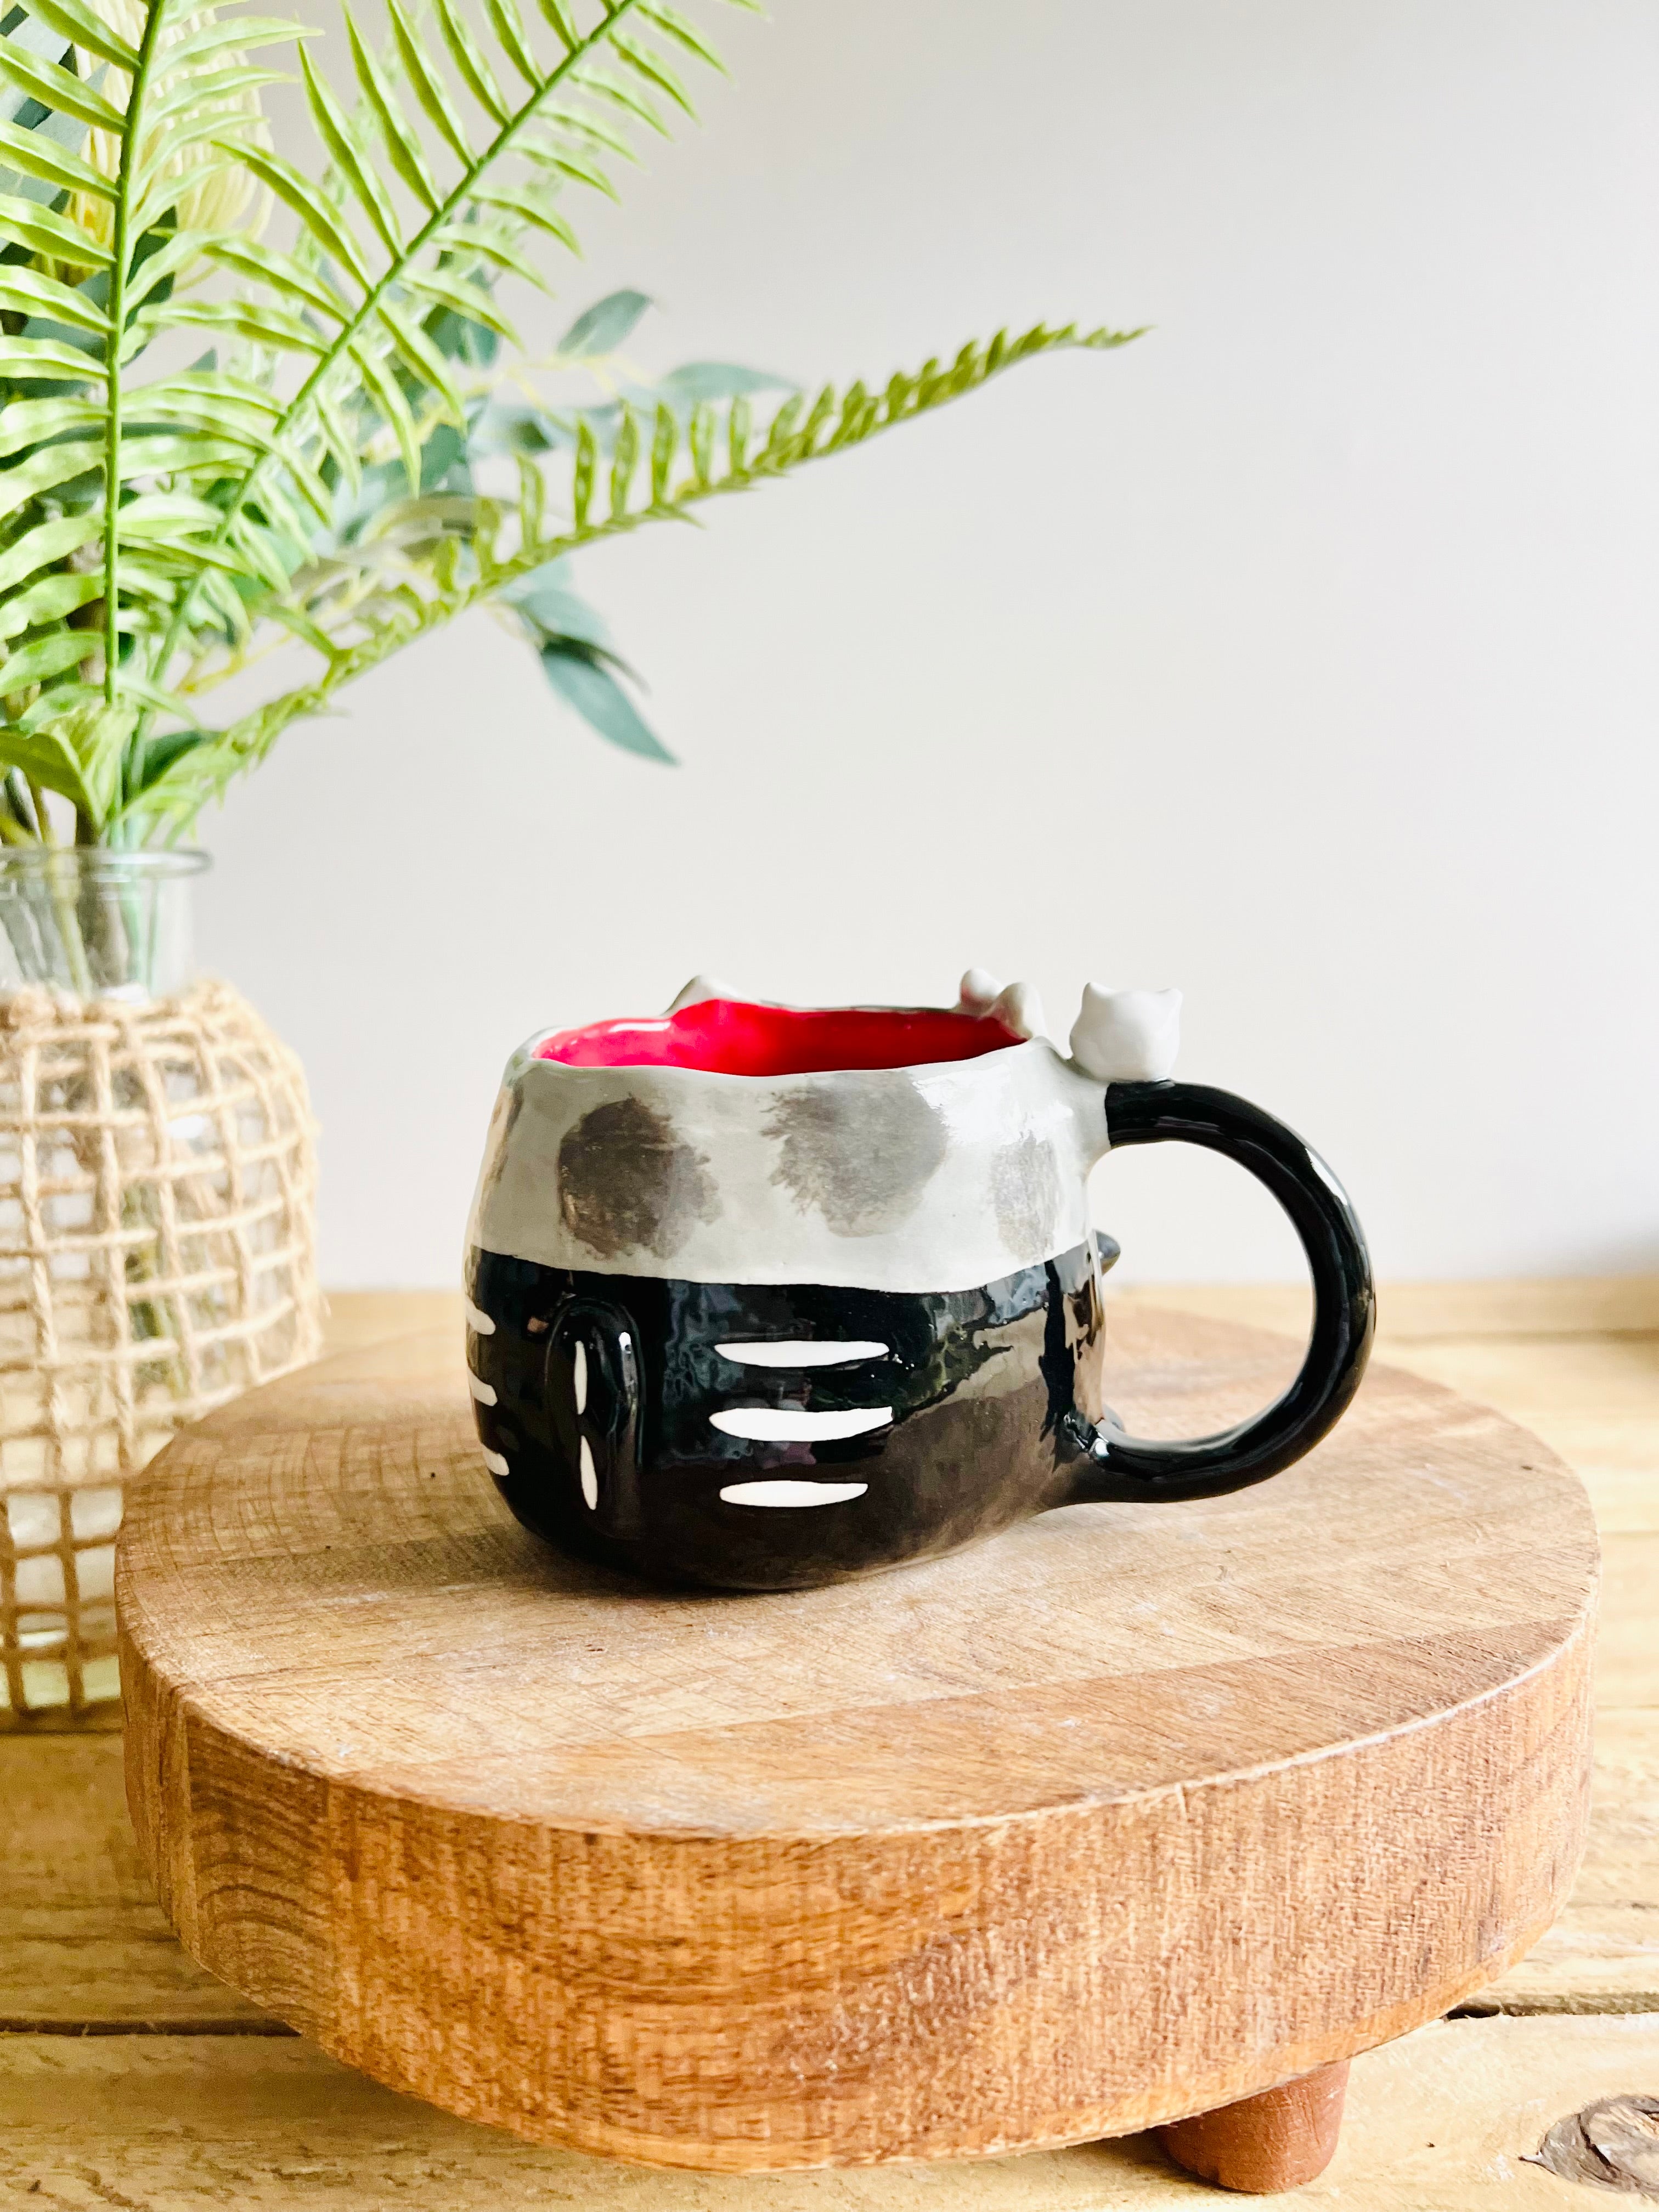
M 814 1075 L 513 1055 L 469 1241 L 690 1283 L 973 1290 L 1091 1234 L 1106 1093 L 1046 1037 Z

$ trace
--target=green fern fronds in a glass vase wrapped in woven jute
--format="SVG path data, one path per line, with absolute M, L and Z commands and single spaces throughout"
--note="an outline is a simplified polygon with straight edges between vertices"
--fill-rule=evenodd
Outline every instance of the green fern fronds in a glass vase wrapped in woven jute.
M 737 0 L 748 4 L 748 0 Z M 0 0 L 4 9 L 4 0 Z M 22 1721 L 113 1694 L 119 1484 L 316 1347 L 303 1079 L 190 982 L 186 841 L 281 732 L 493 602 L 608 741 L 666 757 L 571 555 L 790 476 L 1062 347 L 998 334 L 816 394 L 617 349 L 526 361 L 575 248 L 719 66 L 670 0 L 190 0 L 0 13 L 0 1637 Z M 316 159 L 261 88 L 296 60 Z M 504 369 L 513 367 L 513 380 Z M 568 396 L 571 376 L 599 389 Z M 259 668 L 259 675 L 248 670 Z M 232 677 L 263 695 L 217 714 Z

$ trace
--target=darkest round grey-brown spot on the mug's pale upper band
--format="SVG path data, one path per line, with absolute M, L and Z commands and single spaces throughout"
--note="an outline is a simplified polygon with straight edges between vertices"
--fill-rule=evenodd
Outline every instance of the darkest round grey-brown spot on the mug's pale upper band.
M 719 1214 L 708 1159 L 639 1099 L 595 1106 L 560 1144 L 560 1212 L 591 1252 L 668 1259 Z

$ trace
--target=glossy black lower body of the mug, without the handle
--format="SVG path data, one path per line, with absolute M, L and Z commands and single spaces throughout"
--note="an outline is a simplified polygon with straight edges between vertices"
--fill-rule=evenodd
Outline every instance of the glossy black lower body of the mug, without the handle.
M 478 1407 L 513 1513 L 564 1551 L 650 1582 L 790 1590 L 956 1551 L 1073 1498 L 1064 1416 L 1097 1407 L 1099 1267 L 1066 1252 L 982 1290 L 902 1294 L 823 1285 L 573 1274 L 476 1252 L 469 1296 Z M 865 1340 L 883 1358 L 752 1367 L 732 1340 Z M 575 1347 L 586 1405 L 575 1407 Z M 757 1442 L 710 1416 L 739 1407 L 891 1407 L 867 1436 Z M 591 1495 L 582 1489 L 588 1442 Z M 863 1482 L 854 1500 L 754 1506 L 721 1489 L 763 1478 Z

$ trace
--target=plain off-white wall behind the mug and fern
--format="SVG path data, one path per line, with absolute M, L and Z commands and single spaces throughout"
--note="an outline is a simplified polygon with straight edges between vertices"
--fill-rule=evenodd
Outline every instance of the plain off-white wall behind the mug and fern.
M 653 367 L 1037 363 L 706 533 L 588 555 L 679 770 L 478 617 L 204 823 L 201 951 L 305 1055 L 323 1263 L 456 1276 L 507 1051 L 664 1004 L 940 1000 L 1312 1135 L 1391 1276 L 1659 1265 L 1650 0 L 779 0 L 584 208 Z M 595 212 L 597 210 L 597 212 Z M 1298 1272 L 1223 1166 L 1102 1170 L 1126 1272 Z

